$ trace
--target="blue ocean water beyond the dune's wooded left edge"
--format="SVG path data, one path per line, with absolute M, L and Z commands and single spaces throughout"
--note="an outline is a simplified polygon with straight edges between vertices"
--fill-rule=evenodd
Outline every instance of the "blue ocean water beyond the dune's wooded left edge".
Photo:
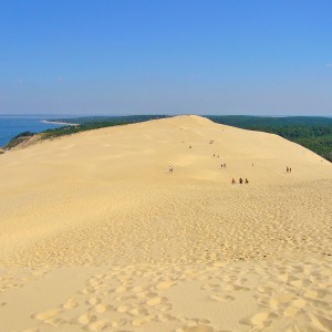
M 40 133 L 63 125 L 43 123 L 43 120 L 64 117 L 63 115 L 0 115 L 0 147 L 23 132 Z

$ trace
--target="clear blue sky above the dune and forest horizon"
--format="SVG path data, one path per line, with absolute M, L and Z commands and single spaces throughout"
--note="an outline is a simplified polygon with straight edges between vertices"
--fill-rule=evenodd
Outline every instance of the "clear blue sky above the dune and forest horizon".
M 0 0 L 0 114 L 332 115 L 331 0 Z

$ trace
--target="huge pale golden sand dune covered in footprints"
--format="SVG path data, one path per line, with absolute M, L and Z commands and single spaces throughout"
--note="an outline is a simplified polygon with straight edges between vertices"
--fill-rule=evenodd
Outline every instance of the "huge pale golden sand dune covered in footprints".
M 0 174 L 1 332 L 332 331 L 332 165 L 297 144 L 176 116 Z

